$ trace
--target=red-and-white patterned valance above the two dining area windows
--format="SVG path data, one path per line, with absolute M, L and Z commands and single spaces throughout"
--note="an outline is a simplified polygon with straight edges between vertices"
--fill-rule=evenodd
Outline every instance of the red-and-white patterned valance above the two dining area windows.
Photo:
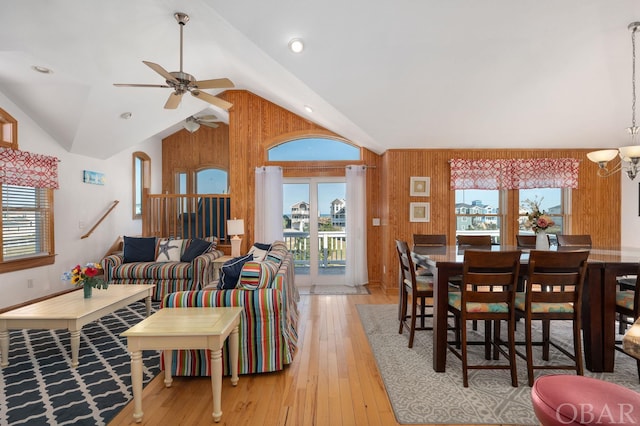
M 451 163 L 451 189 L 577 188 L 574 158 L 463 160 Z

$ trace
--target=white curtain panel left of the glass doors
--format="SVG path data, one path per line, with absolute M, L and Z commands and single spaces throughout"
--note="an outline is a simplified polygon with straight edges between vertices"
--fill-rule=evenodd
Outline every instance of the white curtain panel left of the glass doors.
M 255 241 L 284 240 L 282 234 L 282 168 L 256 167 Z

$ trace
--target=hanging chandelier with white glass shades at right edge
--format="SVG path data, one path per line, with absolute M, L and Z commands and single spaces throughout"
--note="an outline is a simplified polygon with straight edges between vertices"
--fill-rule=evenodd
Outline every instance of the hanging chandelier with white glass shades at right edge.
M 633 50 L 631 65 L 631 127 L 627 131 L 631 135 L 631 145 L 621 146 L 618 149 L 603 149 L 587 154 L 587 158 L 598 164 L 598 176 L 607 177 L 621 170 L 624 170 L 629 179 L 635 179 L 640 171 L 640 145 L 636 144 L 636 136 L 640 130 L 636 126 L 636 31 L 640 28 L 640 22 L 632 22 L 627 27 L 631 31 L 631 48 Z M 620 157 L 618 164 L 611 170 L 607 169 L 607 163 L 617 156 Z

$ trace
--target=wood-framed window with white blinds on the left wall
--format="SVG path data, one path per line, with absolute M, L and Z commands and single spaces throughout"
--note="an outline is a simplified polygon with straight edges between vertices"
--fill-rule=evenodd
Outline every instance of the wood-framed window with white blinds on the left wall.
M 53 190 L 3 184 L 0 272 L 52 264 Z

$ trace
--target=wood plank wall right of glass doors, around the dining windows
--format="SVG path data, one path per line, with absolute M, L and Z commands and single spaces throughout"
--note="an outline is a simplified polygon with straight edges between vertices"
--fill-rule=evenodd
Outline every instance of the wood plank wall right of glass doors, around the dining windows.
M 425 141 L 425 145 L 428 141 Z M 572 191 L 572 215 L 565 226 L 572 234 L 591 234 L 595 247 L 620 247 L 620 176 L 597 176 L 598 167 L 589 161 L 586 153 L 591 150 L 389 150 L 383 154 L 381 186 L 383 198 L 381 214 L 382 237 L 382 286 L 387 292 L 398 288 L 398 260 L 395 239 L 411 242 L 413 234 L 446 234 L 448 243 L 455 244 L 455 193 L 450 190 L 449 160 L 498 159 L 498 158 L 577 158 L 580 160 L 579 188 Z M 429 176 L 429 197 L 411 197 L 411 176 Z M 517 212 L 518 200 L 507 200 L 509 210 Z M 409 222 L 409 203 L 416 201 L 431 204 L 430 222 Z M 509 227 L 506 244 L 515 245 L 517 217 L 506 218 Z

